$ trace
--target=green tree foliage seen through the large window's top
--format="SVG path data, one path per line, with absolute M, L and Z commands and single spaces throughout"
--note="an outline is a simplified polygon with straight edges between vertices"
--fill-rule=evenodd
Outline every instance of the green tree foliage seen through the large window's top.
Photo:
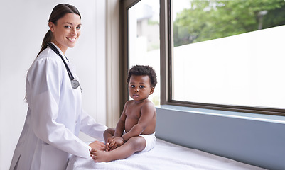
M 188 2 L 173 22 L 175 47 L 285 25 L 283 0 Z

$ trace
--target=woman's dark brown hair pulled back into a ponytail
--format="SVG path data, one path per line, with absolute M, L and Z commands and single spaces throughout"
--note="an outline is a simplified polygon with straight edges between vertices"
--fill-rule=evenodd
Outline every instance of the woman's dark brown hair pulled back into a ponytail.
M 72 6 L 70 4 L 58 4 L 57 6 L 55 6 L 53 8 L 53 11 L 50 13 L 50 18 L 49 18 L 48 22 L 52 22 L 56 25 L 56 24 L 58 24 L 57 23 L 58 20 L 60 18 L 63 18 L 63 16 L 65 16 L 65 14 L 67 14 L 67 13 L 75 13 L 78 16 L 80 16 L 80 18 L 81 18 L 80 13 L 75 6 Z M 48 47 L 48 42 L 50 42 L 52 40 L 52 38 L 53 38 L 53 33 L 50 30 L 48 30 L 48 33 L 46 33 L 45 37 L 43 38 L 41 50 L 40 50 L 40 52 L 38 52 L 38 55 L 40 55 L 40 53 L 43 50 L 45 50 L 46 47 Z

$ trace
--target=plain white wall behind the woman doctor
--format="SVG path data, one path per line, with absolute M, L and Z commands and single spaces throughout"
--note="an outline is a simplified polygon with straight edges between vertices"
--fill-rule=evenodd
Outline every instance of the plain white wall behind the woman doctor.
M 67 55 L 77 66 L 85 111 L 100 123 L 107 121 L 106 1 L 1 1 L 0 169 L 9 169 L 26 118 L 26 72 L 48 31 L 48 17 L 60 3 L 76 6 L 82 15 L 80 39 Z

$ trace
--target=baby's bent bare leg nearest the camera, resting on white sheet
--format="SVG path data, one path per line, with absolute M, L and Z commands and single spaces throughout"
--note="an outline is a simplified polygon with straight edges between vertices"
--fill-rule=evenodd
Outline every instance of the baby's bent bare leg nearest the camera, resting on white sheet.
M 112 151 L 105 152 L 98 149 L 92 149 L 90 153 L 95 162 L 110 162 L 117 159 L 125 159 L 134 152 L 140 152 L 146 147 L 144 137 L 131 137 L 124 145 Z

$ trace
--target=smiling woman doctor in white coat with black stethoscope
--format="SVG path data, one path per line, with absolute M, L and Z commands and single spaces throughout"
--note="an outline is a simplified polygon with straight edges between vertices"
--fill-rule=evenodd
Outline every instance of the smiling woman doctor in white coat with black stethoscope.
M 28 70 L 28 112 L 10 169 L 66 169 L 70 154 L 90 158 L 91 147 L 104 149 L 102 142 L 87 145 L 77 137 L 82 131 L 103 139 L 107 129 L 82 110 L 79 81 L 65 57 L 80 36 L 80 13 L 75 6 L 59 4 L 48 26 L 41 51 Z

